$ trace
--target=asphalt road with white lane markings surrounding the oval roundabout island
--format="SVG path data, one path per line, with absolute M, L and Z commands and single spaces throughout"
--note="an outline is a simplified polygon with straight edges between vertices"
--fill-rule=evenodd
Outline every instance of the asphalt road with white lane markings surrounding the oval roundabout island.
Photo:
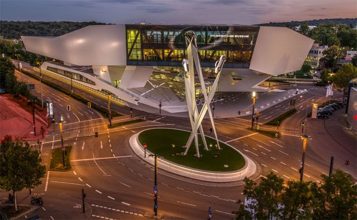
M 16 73 L 16 76 L 19 76 L 19 74 Z M 39 96 L 37 92 L 39 90 L 38 81 L 36 82 L 36 80 L 24 74 L 22 77 L 26 82 L 35 82 L 36 92 L 34 94 Z M 45 75 L 43 75 L 43 78 L 69 89 L 69 85 L 56 79 L 51 79 Z M 284 178 L 285 181 L 299 179 L 299 160 L 301 160 L 302 154 L 302 141 L 299 137 L 301 122 L 305 120 L 306 106 L 311 108 L 312 101 L 321 103 L 325 94 L 325 90 L 321 88 L 301 88 L 307 88 L 308 92 L 302 94 L 302 97 L 297 97 L 296 108 L 298 112 L 285 120 L 279 127 L 279 131 L 283 134 L 281 139 L 271 139 L 247 130 L 246 128 L 250 127 L 249 116 L 215 119 L 219 139 L 239 149 L 257 163 L 258 169 L 257 173 L 252 176 L 253 179 L 259 181 L 259 177 L 266 176 L 270 172 L 274 172 Z M 33 189 L 35 195 L 42 194 L 45 203 L 43 208 L 28 214 L 28 217 L 38 215 L 42 219 L 142 219 L 146 218 L 145 215 L 152 213 L 154 171 L 152 166 L 143 162 L 132 152 L 128 143 L 129 137 L 150 127 L 173 127 L 190 130 L 189 120 L 147 114 L 135 109 L 134 117 L 145 117 L 146 122 L 109 130 L 107 120 L 101 118 L 100 114 L 93 109 L 88 109 L 83 103 L 45 85 L 42 85 L 42 92 L 44 100 L 49 97 L 56 101 L 54 103 L 56 119 L 57 115 L 63 115 L 65 118 L 64 137 L 73 136 L 73 139 L 65 142 L 65 145 L 69 143 L 74 146 L 71 153 L 72 170 L 69 172 L 46 172 L 43 183 Z M 75 87 L 74 93 L 80 94 L 88 100 L 96 100 L 103 106 L 107 104 L 104 98 L 87 94 L 86 91 Z M 342 97 L 342 95 L 337 95 L 337 98 L 339 97 Z M 67 104 L 71 105 L 71 111 L 67 111 Z M 126 114 L 115 118 L 114 121 L 130 120 L 129 107 L 113 104 L 112 108 L 119 113 Z M 276 130 L 275 127 L 263 124 L 288 111 L 289 108 L 291 108 L 289 100 L 272 106 L 261 112 L 259 123 L 265 129 Z M 337 113 L 338 111 L 340 112 Z M 339 115 L 343 115 L 343 110 L 338 111 L 334 113 L 334 117 L 336 115 L 337 118 L 343 118 L 343 116 L 339 117 Z M 338 140 L 339 144 L 336 144 L 336 141 L 333 143 L 326 140 L 325 135 L 328 135 L 326 131 L 331 128 L 327 125 L 327 128 L 323 129 L 321 123 L 329 122 L 337 123 L 338 121 L 327 120 L 324 122 L 323 120 L 313 121 L 312 119 L 307 121 L 308 134 L 313 136 L 313 140 L 308 143 L 304 180 L 320 182 L 321 174 L 328 174 L 328 157 L 330 155 L 326 155 L 323 150 L 325 146 L 328 146 L 331 154 L 338 157 L 336 168 L 340 168 L 342 158 L 353 158 L 350 167 L 341 167 L 341 169 L 354 173 L 355 177 L 355 149 L 345 146 L 350 144 L 351 140 L 353 142 L 353 139 L 348 139 L 350 140 L 348 142 Z M 209 134 L 209 120 L 203 120 L 202 125 L 206 134 Z M 95 131 L 99 133 L 98 137 L 79 137 L 93 134 Z M 315 133 L 319 133 L 319 135 Z M 348 131 L 342 130 L 340 135 L 349 134 Z M 320 145 L 320 143 L 323 143 L 323 145 Z M 49 163 L 50 150 L 59 146 L 59 131 L 58 127 L 55 127 L 55 131 L 49 132 L 43 141 L 41 157 L 44 164 L 48 165 Z M 341 151 L 341 149 L 344 149 L 344 151 Z M 46 168 L 48 167 L 46 166 Z M 242 181 L 219 184 L 191 180 L 161 171 L 159 167 L 158 187 L 159 215 L 163 215 L 166 219 L 207 218 L 209 206 L 211 206 L 216 219 L 231 219 L 234 218 L 232 211 L 238 209 L 236 201 L 243 199 L 244 185 Z M 82 188 L 87 194 L 85 214 L 82 214 L 82 209 L 79 208 L 82 204 Z M 31 198 L 28 194 L 28 190 L 18 193 L 19 200 L 22 203 L 29 203 Z

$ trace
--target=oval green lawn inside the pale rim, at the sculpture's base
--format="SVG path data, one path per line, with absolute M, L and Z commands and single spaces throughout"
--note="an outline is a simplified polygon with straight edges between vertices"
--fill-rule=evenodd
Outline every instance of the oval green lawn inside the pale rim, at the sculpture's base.
M 146 143 L 150 152 L 157 153 L 167 160 L 186 167 L 218 172 L 236 171 L 244 167 L 245 160 L 240 153 L 222 142 L 220 142 L 222 150 L 216 149 L 216 142 L 210 137 L 206 137 L 206 141 L 208 145 L 212 144 L 212 147 L 209 147 L 210 151 L 206 151 L 200 135 L 198 135 L 198 143 L 200 144 L 199 153 L 202 157 L 194 156 L 196 154 L 194 142 L 192 142 L 187 155 L 180 155 L 186 150 L 182 146 L 186 145 L 189 135 L 188 131 L 158 128 L 141 132 L 139 141 L 141 144 Z M 224 165 L 228 167 L 224 167 Z

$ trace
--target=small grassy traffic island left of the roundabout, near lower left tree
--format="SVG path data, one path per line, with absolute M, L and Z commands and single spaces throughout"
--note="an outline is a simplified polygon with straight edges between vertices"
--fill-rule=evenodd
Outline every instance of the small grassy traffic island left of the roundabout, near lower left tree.
M 49 163 L 49 170 L 55 170 L 55 171 L 69 171 L 71 167 L 70 163 L 70 154 L 72 150 L 72 146 L 65 146 L 67 155 L 64 155 L 64 162 L 65 162 L 65 167 L 63 167 L 63 160 L 62 160 L 62 148 L 55 148 L 52 149 L 51 153 L 51 162 Z

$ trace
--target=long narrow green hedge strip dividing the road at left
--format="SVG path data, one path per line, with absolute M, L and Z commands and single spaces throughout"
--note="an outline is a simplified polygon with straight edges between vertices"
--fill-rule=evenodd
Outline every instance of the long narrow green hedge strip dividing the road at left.
M 19 70 L 19 69 L 17 69 L 17 70 Z M 25 71 L 23 69 L 21 71 L 22 71 L 22 73 L 24 73 L 24 74 L 26 74 L 26 75 L 34 78 L 34 79 L 40 80 L 40 77 L 37 76 L 37 75 L 34 75 L 34 74 L 32 74 L 32 73 L 30 73 L 28 71 Z M 56 90 L 58 90 L 58 91 L 60 91 L 60 92 L 62 92 L 64 94 L 68 95 L 68 96 L 71 96 L 75 100 L 78 100 L 78 101 L 80 101 L 80 102 L 82 102 L 82 103 L 84 103 L 86 105 L 88 104 L 88 102 L 90 102 L 87 99 L 85 99 L 85 98 L 83 98 L 83 97 L 81 97 L 81 96 L 79 96 L 79 95 L 77 95 L 75 93 L 71 93 L 69 90 L 66 90 L 63 87 L 60 87 L 57 84 L 54 84 L 53 82 L 50 82 L 50 81 L 48 81 L 46 79 L 41 79 L 41 82 L 43 84 L 49 86 L 49 87 L 52 87 L 52 88 L 54 88 L 54 89 L 56 89 Z M 99 112 L 104 118 L 108 118 L 108 110 L 107 110 L 107 108 L 101 107 L 101 106 L 99 106 L 97 104 L 94 104 L 94 103 L 92 103 L 92 108 L 94 108 L 97 112 Z M 117 112 L 115 112 L 115 111 L 112 111 L 112 117 L 118 117 L 118 116 L 122 116 L 122 115 L 117 113 Z

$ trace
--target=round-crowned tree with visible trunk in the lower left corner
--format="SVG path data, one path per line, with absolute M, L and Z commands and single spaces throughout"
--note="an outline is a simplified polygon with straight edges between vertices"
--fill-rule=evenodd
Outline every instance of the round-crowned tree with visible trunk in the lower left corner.
M 6 135 L 0 147 L 0 188 L 13 191 L 17 211 L 16 192 L 40 185 L 46 169 L 41 165 L 38 152 L 32 151 L 28 142 L 12 141 L 12 137 Z

